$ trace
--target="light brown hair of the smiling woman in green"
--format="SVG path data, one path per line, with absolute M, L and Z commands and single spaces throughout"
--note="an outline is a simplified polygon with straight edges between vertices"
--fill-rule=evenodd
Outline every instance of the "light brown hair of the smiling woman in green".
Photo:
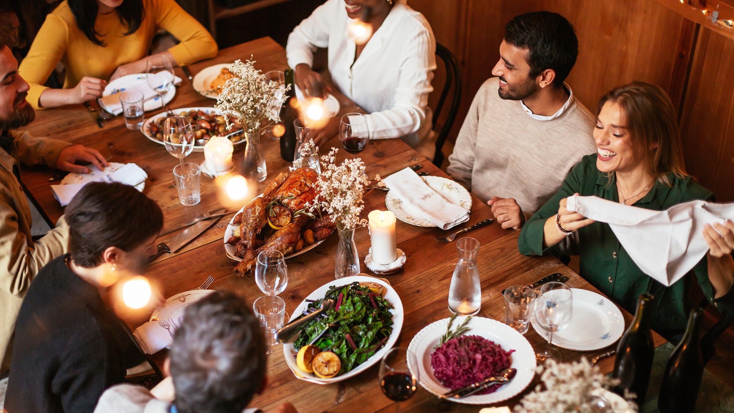
M 614 87 L 599 99 L 597 115 L 606 102 L 622 108 L 632 143 L 645 151 L 647 171 L 658 182 L 670 186 L 669 173 L 688 176 L 675 107 L 661 87 L 639 81 Z

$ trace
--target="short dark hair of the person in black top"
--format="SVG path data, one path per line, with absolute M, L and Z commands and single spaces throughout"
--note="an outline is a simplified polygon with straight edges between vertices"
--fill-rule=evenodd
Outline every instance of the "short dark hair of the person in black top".
M 74 264 L 96 267 L 109 247 L 132 251 L 163 228 L 156 201 L 120 182 L 90 182 L 66 207 Z

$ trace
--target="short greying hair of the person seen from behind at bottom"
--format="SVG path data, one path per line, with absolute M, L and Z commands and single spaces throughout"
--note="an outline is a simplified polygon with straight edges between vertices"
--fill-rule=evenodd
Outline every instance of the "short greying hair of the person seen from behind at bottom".
M 215 291 L 183 313 L 170 351 L 179 413 L 239 413 L 265 380 L 265 334 L 244 298 Z

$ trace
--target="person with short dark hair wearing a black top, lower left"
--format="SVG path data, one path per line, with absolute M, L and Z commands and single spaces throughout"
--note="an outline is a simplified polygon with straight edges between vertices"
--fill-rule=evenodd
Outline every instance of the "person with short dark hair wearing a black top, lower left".
M 69 254 L 40 270 L 18 315 L 8 412 L 92 412 L 104 389 L 142 361 L 101 293 L 145 271 L 163 212 L 134 187 L 92 182 L 66 220 Z

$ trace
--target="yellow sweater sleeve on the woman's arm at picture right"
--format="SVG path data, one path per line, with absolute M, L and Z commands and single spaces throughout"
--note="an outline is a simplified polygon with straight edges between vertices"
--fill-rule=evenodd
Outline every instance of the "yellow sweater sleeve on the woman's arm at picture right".
M 217 42 L 192 15 L 174 0 L 153 0 L 156 3 L 156 26 L 174 35 L 181 43 L 168 49 L 179 65 L 217 56 Z

